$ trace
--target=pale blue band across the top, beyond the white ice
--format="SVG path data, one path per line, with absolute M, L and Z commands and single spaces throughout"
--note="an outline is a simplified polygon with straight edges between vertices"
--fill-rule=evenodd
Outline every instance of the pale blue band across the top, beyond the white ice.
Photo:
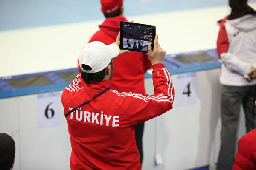
M 124 11 L 129 17 L 227 4 L 228 0 L 124 0 Z M 0 31 L 103 19 L 99 0 L 0 0 Z

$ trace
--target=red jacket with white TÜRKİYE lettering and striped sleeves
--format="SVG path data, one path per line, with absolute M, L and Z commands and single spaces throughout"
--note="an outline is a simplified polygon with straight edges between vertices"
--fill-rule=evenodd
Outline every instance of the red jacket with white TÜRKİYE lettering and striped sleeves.
M 141 170 L 134 125 L 172 109 L 174 88 L 163 64 L 153 65 L 153 95 L 108 90 L 67 116 L 71 170 Z M 64 113 L 92 99 L 111 82 L 87 85 L 79 74 L 61 96 Z

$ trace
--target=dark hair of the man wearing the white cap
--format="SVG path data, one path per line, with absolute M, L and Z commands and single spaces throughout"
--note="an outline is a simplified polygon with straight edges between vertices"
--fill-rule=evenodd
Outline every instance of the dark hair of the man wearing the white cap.
M 113 59 L 111 59 L 111 62 L 109 63 L 109 65 L 111 65 L 111 68 L 113 70 Z M 85 64 L 82 65 L 82 68 L 84 70 L 92 70 L 92 68 L 89 65 L 85 65 Z M 84 71 L 82 71 L 81 76 L 86 84 L 91 84 L 92 82 L 94 83 L 101 82 L 106 76 L 105 71 L 106 71 L 106 68 L 104 68 L 102 71 L 99 71 L 97 73 L 85 73 Z

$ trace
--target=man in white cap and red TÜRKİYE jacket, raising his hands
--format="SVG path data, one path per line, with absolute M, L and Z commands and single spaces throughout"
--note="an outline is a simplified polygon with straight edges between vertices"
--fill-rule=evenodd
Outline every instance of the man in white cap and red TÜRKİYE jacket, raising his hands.
M 117 66 L 112 58 L 126 52 L 119 50 L 119 37 L 110 45 L 85 45 L 79 54 L 82 73 L 61 95 L 72 147 L 71 170 L 141 170 L 134 125 L 172 109 L 174 87 L 162 64 L 166 52 L 158 35 L 153 51 L 148 45 L 154 94 L 110 90 Z

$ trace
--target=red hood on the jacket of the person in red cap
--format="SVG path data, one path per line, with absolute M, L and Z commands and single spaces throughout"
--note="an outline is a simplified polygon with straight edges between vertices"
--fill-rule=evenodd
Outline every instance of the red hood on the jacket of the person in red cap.
M 102 25 L 99 25 L 99 28 L 109 36 L 116 38 L 120 31 L 120 21 L 127 21 L 127 19 L 124 16 L 107 18 Z

